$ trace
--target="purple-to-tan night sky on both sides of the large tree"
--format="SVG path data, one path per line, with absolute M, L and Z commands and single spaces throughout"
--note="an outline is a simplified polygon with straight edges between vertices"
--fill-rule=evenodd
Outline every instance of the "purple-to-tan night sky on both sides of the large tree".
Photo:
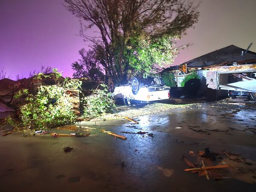
M 71 63 L 87 48 L 79 34 L 79 20 L 63 0 L 0 0 L 0 69 L 15 79 L 27 77 L 42 65 L 72 76 Z M 180 64 L 234 44 L 256 52 L 256 0 L 202 0 L 195 29 L 178 44 L 192 43 L 177 57 Z

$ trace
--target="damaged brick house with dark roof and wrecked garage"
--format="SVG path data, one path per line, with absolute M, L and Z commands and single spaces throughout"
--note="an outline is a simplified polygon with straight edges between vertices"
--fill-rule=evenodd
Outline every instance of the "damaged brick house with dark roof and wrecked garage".
M 230 45 L 165 70 L 175 73 L 178 87 L 186 74 L 196 70 L 201 78 L 200 93 L 208 99 L 227 97 L 228 90 L 256 93 L 256 52 L 249 48 Z

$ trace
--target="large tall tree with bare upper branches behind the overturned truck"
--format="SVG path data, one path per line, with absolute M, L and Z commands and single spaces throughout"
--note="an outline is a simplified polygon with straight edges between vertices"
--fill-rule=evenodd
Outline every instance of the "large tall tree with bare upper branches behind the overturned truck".
M 81 20 L 106 75 L 119 82 L 148 76 L 171 64 L 182 47 L 175 40 L 198 21 L 198 6 L 185 0 L 65 0 Z M 186 2 L 186 3 L 185 3 Z M 87 35 L 97 28 L 96 35 Z

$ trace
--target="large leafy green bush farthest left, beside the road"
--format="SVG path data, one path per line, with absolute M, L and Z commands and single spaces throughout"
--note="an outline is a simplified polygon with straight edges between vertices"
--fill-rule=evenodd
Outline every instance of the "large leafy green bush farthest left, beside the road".
M 40 76 L 42 75 L 39 74 L 39 78 Z M 19 108 L 21 126 L 40 130 L 74 122 L 76 115 L 72 98 L 65 88 L 79 89 L 81 81 L 65 79 L 62 84 L 41 85 L 35 95 L 26 89 L 18 91 L 15 98 L 23 97 L 26 101 L 26 104 Z

